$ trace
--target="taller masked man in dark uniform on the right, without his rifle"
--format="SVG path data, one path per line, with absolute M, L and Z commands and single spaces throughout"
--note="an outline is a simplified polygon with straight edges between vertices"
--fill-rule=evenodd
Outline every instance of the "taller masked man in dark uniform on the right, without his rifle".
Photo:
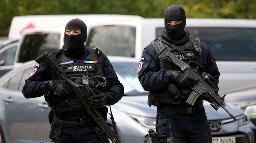
M 189 84 L 193 79 L 167 59 L 159 60 L 157 54 L 165 47 L 201 75 L 211 75 L 209 84 L 218 91 L 220 75 L 215 59 L 207 45 L 185 31 L 186 15 L 181 6 L 172 5 L 165 12 L 165 30 L 144 48 L 139 62 L 139 81 L 149 91 L 148 104 L 157 106 L 156 130 L 162 143 L 211 143 L 202 95 L 192 106 L 186 102 L 192 92 Z

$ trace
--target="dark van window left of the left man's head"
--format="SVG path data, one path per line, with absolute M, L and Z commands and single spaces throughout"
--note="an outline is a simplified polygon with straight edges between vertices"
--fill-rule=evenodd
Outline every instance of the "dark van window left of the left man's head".
M 52 53 L 60 47 L 60 34 L 28 34 L 21 41 L 17 62 L 26 62 L 38 58 L 40 55 Z

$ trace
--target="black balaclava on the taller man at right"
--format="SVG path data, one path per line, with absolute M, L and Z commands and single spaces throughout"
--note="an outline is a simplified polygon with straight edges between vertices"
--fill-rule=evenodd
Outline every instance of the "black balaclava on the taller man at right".
M 177 25 L 169 25 L 167 21 L 182 21 Z M 180 40 L 185 36 L 186 14 L 184 9 L 178 5 L 172 5 L 165 11 L 165 30 L 167 36 L 172 40 Z

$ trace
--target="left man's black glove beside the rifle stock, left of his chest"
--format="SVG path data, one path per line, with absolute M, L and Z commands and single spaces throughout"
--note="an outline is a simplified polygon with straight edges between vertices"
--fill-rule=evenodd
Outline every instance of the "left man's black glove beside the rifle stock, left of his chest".
M 51 92 L 58 96 L 74 96 L 73 90 L 64 81 L 51 81 L 49 84 Z

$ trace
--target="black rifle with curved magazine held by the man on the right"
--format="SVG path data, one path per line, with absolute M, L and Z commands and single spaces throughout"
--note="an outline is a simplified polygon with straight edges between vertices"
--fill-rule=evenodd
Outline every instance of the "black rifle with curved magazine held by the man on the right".
M 209 79 L 209 75 L 205 72 L 202 73 L 202 75 L 198 75 L 192 67 L 187 64 L 186 62 L 180 60 L 178 57 L 176 57 L 169 48 L 165 47 L 159 54 L 157 54 L 157 57 L 162 60 L 162 59 L 168 59 L 172 61 L 175 65 L 179 66 L 184 74 L 187 76 L 195 79 L 198 83 L 193 83 L 190 85 L 190 88 L 193 89 L 192 93 L 189 95 L 187 99 L 187 103 L 191 104 L 192 106 L 194 105 L 196 99 L 202 95 L 203 93 L 206 94 L 208 97 L 210 97 L 213 102 L 211 103 L 211 106 L 215 109 L 218 110 L 219 107 L 222 107 L 232 119 L 237 120 L 225 107 L 226 103 L 224 102 L 224 97 L 222 97 L 218 94 L 215 93 L 215 91 L 207 84 L 205 80 Z

